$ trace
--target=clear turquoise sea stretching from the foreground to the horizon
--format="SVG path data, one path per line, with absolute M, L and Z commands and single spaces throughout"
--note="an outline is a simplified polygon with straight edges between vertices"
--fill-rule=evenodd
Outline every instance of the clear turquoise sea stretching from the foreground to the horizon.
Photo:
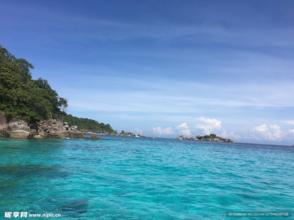
M 1 138 L 0 219 L 15 211 L 83 220 L 260 219 L 225 213 L 293 211 L 294 147 L 103 138 Z

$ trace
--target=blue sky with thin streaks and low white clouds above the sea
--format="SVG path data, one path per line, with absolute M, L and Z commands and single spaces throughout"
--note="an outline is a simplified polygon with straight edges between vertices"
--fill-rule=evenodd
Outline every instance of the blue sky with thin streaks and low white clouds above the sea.
M 0 1 L 0 44 L 119 132 L 294 143 L 294 1 Z

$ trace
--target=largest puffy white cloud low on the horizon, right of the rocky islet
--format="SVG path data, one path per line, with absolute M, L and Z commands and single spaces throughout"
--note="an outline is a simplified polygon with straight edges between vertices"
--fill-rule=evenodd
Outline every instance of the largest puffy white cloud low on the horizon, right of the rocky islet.
M 281 138 L 284 136 L 283 131 L 280 131 L 280 126 L 269 125 L 266 126 L 265 124 L 254 127 L 253 131 L 257 131 L 265 140 L 269 141 L 280 141 Z

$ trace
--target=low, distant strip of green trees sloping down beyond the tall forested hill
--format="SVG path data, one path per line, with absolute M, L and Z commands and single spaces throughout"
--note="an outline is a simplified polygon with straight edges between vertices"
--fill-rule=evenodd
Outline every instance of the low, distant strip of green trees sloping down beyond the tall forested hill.
M 69 126 L 76 125 L 78 129 L 86 129 L 88 131 L 110 131 L 112 133 L 117 133 L 114 131 L 110 124 L 99 123 L 98 121 L 92 119 L 83 119 L 74 117 L 72 115 L 66 115 L 63 118 L 64 121 L 68 122 Z

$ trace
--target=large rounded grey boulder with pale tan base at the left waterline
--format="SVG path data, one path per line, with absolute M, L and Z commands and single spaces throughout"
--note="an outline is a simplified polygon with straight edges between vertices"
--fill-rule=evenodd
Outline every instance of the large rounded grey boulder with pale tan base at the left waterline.
M 6 135 L 9 138 L 26 139 L 29 136 L 31 129 L 24 121 L 12 119 L 7 125 Z

